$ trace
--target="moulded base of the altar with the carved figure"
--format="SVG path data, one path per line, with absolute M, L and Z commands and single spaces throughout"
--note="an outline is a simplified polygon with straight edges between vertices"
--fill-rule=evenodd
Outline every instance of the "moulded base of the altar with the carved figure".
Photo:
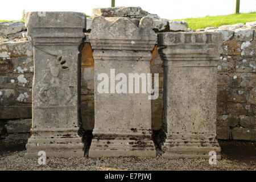
M 47 157 L 84 156 L 84 143 L 77 135 L 77 128 L 34 130 L 33 136 L 28 139 L 26 148 L 27 157 L 38 156 L 39 151 L 45 151 Z

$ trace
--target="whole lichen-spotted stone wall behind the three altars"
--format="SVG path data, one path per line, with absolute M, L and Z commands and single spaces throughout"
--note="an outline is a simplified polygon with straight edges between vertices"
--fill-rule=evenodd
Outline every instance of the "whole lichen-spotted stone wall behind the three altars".
M 136 9 L 133 14 L 105 15 L 108 10 L 94 10 L 96 15 L 125 16 L 139 23 L 143 16 L 153 19 L 158 32 L 193 31 L 187 22 L 172 22 Z M 129 11 L 130 12 L 130 11 Z M 110 17 L 111 18 L 111 17 Z M 92 29 L 86 21 L 86 36 Z M 256 140 L 256 22 L 208 27 L 195 31 L 221 32 L 223 53 L 217 63 L 217 138 Z M 27 139 L 31 127 L 32 81 L 34 63 L 32 46 L 24 35 L 22 22 L 0 23 L 0 135 L 6 139 Z M 162 127 L 163 61 L 160 46 L 151 51 L 151 73 L 159 73 L 159 97 L 151 100 L 152 129 Z M 81 51 L 81 121 L 84 130 L 94 128 L 94 59 L 88 37 Z

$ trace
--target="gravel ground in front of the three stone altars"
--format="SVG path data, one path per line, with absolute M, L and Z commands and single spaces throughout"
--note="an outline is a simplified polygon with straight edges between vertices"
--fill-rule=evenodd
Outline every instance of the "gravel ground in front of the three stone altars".
M 0 170 L 256 170 L 255 143 L 221 143 L 222 159 L 216 165 L 207 159 L 166 159 L 158 152 L 156 158 L 49 158 L 40 166 L 38 158 L 24 157 L 24 143 L 0 141 Z

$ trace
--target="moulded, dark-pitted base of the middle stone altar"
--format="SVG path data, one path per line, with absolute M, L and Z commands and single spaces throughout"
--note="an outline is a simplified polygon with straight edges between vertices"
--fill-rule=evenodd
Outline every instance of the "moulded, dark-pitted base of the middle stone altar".
M 97 134 L 96 134 L 97 133 Z M 115 133 L 115 134 L 113 134 Z M 116 131 L 106 134 L 94 131 L 89 156 L 92 158 L 106 156 L 156 156 L 151 134 L 142 134 L 142 131 Z

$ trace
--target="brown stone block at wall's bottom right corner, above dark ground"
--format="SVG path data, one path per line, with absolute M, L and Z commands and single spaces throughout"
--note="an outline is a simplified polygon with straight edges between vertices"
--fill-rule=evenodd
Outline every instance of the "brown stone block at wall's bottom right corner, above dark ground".
M 256 129 L 235 127 L 234 129 L 232 129 L 232 138 L 234 140 L 255 140 Z

